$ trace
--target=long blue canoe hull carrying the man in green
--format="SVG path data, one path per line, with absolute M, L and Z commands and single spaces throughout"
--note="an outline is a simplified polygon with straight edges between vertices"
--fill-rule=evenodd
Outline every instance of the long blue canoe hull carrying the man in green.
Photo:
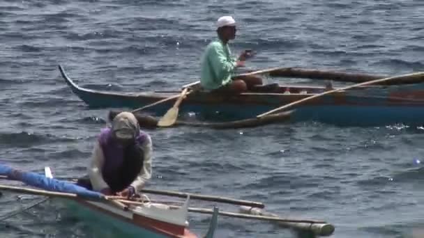
M 119 93 L 77 86 L 59 65 L 61 76 L 77 97 L 94 108 L 136 109 L 178 95 L 179 90 L 145 93 Z M 196 113 L 201 118 L 243 120 L 324 93 L 325 87 L 278 86 L 272 93 L 248 92 L 240 95 L 218 95 L 197 91 L 188 95 L 180 113 Z M 162 116 L 173 101 L 153 106 L 146 111 Z M 290 122 L 314 120 L 334 125 L 422 125 L 424 122 L 424 84 L 367 86 L 324 95 L 296 106 Z

